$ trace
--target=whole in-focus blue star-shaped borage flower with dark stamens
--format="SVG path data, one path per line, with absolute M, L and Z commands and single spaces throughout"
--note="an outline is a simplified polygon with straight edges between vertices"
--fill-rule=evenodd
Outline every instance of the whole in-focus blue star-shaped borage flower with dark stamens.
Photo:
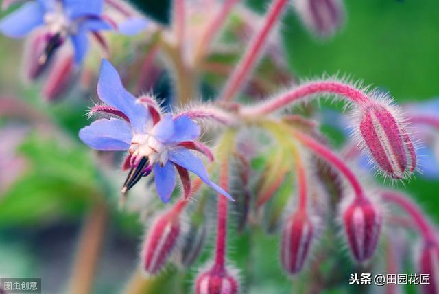
M 134 98 L 123 87 L 119 74 L 107 60 L 102 60 L 97 94 L 107 106 L 96 106 L 92 113 L 102 111 L 118 117 L 96 120 L 82 128 L 79 136 L 96 150 L 129 151 L 123 165 L 130 168 L 123 193 L 141 177 L 154 172 L 158 196 L 167 203 L 176 186 L 176 171 L 182 179 L 185 194 L 190 194 L 189 170 L 211 188 L 232 199 L 228 192 L 209 179 L 201 159 L 189 150 L 204 152 L 212 158 L 209 149 L 195 141 L 200 136 L 200 126 L 187 115 L 162 114 L 154 100 Z

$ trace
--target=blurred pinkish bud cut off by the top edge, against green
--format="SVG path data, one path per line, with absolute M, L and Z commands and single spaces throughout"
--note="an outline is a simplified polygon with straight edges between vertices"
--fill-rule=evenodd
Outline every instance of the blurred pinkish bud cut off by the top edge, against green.
M 334 34 L 344 20 L 340 0 L 296 0 L 294 7 L 309 30 L 320 38 Z

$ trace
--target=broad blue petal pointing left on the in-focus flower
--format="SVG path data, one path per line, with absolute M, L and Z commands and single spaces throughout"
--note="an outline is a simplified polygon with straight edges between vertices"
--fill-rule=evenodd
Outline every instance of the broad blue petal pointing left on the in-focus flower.
M 79 136 L 91 148 L 102 151 L 128 150 L 132 138 L 130 124 L 117 118 L 97 120 L 82 128 Z

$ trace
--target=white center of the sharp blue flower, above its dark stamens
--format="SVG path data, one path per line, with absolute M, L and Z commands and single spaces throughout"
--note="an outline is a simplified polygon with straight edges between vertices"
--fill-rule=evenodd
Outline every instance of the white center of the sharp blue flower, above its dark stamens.
M 169 160 L 169 147 L 150 134 L 137 134 L 132 137 L 130 152 L 134 157 L 148 157 L 151 165 L 164 166 Z

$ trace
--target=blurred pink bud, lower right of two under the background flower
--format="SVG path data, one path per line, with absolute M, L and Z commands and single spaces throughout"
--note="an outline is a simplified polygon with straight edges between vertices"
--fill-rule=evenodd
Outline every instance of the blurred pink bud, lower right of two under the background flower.
M 49 101 L 60 98 L 69 89 L 74 76 L 73 55 L 57 56 L 43 85 L 43 97 Z

